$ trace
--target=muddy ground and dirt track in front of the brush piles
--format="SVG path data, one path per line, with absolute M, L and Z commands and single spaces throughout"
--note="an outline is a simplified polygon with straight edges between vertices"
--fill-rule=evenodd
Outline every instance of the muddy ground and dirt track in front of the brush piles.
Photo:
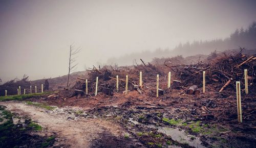
M 115 93 L 67 97 L 67 91 L 1 102 L 12 112 L 28 115 L 46 131 L 56 133 L 55 145 L 70 147 L 253 147 L 255 102 L 242 95 L 243 122 L 238 123 L 233 93 L 188 95 L 172 90 L 165 99 Z M 225 96 L 223 96 L 225 95 Z M 28 101 L 57 106 L 48 111 Z

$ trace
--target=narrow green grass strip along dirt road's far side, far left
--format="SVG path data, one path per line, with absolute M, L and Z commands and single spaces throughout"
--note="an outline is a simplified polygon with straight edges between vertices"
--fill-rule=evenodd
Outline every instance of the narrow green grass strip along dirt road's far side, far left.
M 0 96 L 0 101 L 12 101 L 12 100 L 25 100 L 27 98 L 40 96 L 44 94 L 49 94 L 52 92 L 43 92 L 43 93 L 29 93 L 29 94 L 22 94 L 22 95 L 8 95 L 8 96 Z

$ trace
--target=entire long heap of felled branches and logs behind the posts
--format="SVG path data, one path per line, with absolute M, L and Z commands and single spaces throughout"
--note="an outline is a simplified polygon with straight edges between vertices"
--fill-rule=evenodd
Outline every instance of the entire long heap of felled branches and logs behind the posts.
M 98 77 L 98 91 L 112 95 L 116 91 L 116 76 L 119 76 L 119 91 L 124 91 L 126 75 L 129 78 L 129 89 L 135 89 L 139 85 L 139 71 L 142 71 L 143 85 L 146 84 L 147 87 L 152 89 L 155 89 L 157 74 L 160 77 L 162 76 L 160 85 L 161 82 L 166 82 L 167 84 L 167 71 L 172 72 L 171 89 L 181 88 L 186 91 L 193 85 L 202 88 L 203 71 L 206 71 L 206 85 L 209 86 L 207 89 L 210 91 L 236 91 L 236 81 L 240 81 L 241 89 L 244 89 L 244 69 L 248 70 L 249 87 L 253 86 L 256 81 L 256 72 L 254 70 L 256 68 L 256 57 L 246 57 L 242 52 L 243 50 L 229 56 L 225 53 L 220 53 L 215 58 L 211 58 L 208 63 L 198 62 L 193 65 L 169 66 L 164 62 L 162 66 L 155 66 L 141 60 L 143 64 L 137 66 L 118 67 L 110 65 L 102 68 L 93 66 L 88 70 L 88 91 L 95 92 L 96 77 Z M 80 78 L 76 82 L 75 89 L 84 91 L 86 89 L 84 80 L 86 79 Z M 164 92 L 170 91 L 167 87 L 163 88 L 165 89 Z

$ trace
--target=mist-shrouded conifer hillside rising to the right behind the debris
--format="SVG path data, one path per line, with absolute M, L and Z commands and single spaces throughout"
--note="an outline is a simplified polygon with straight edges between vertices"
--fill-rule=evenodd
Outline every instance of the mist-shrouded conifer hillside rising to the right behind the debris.
M 211 52 L 222 52 L 225 50 L 233 50 L 239 47 L 245 47 L 248 51 L 256 50 L 256 21 L 252 22 L 247 29 L 241 28 L 234 31 L 230 37 L 225 39 L 214 39 L 210 41 L 194 41 L 193 43 L 180 43 L 173 50 L 157 49 L 154 52 L 143 51 L 141 53 L 132 53 L 124 55 L 119 58 L 110 58 L 106 62 L 107 64 L 118 65 L 131 65 L 143 59 L 144 61 L 151 61 L 153 58 L 166 58 L 177 55 L 183 55 L 184 57 L 192 56 L 196 54 L 208 55 Z

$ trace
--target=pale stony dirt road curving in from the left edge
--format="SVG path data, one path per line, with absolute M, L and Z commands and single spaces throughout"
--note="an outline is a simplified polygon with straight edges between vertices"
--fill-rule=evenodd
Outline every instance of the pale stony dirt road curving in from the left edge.
M 67 114 L 47 111 L 43 108 L 27 105 L 23 102 L 0 102 L 11 112 L 20 116 L 29 116 L 41 125 L 46 131 L 57 134 L 57 145 L 68 147 L 91 147 L 92 141 L 102 138 L 109 133 L 114 137 L 123 137 L 124 129 L 114 122 L 103 119 L 76 119 L 72 120 Z

